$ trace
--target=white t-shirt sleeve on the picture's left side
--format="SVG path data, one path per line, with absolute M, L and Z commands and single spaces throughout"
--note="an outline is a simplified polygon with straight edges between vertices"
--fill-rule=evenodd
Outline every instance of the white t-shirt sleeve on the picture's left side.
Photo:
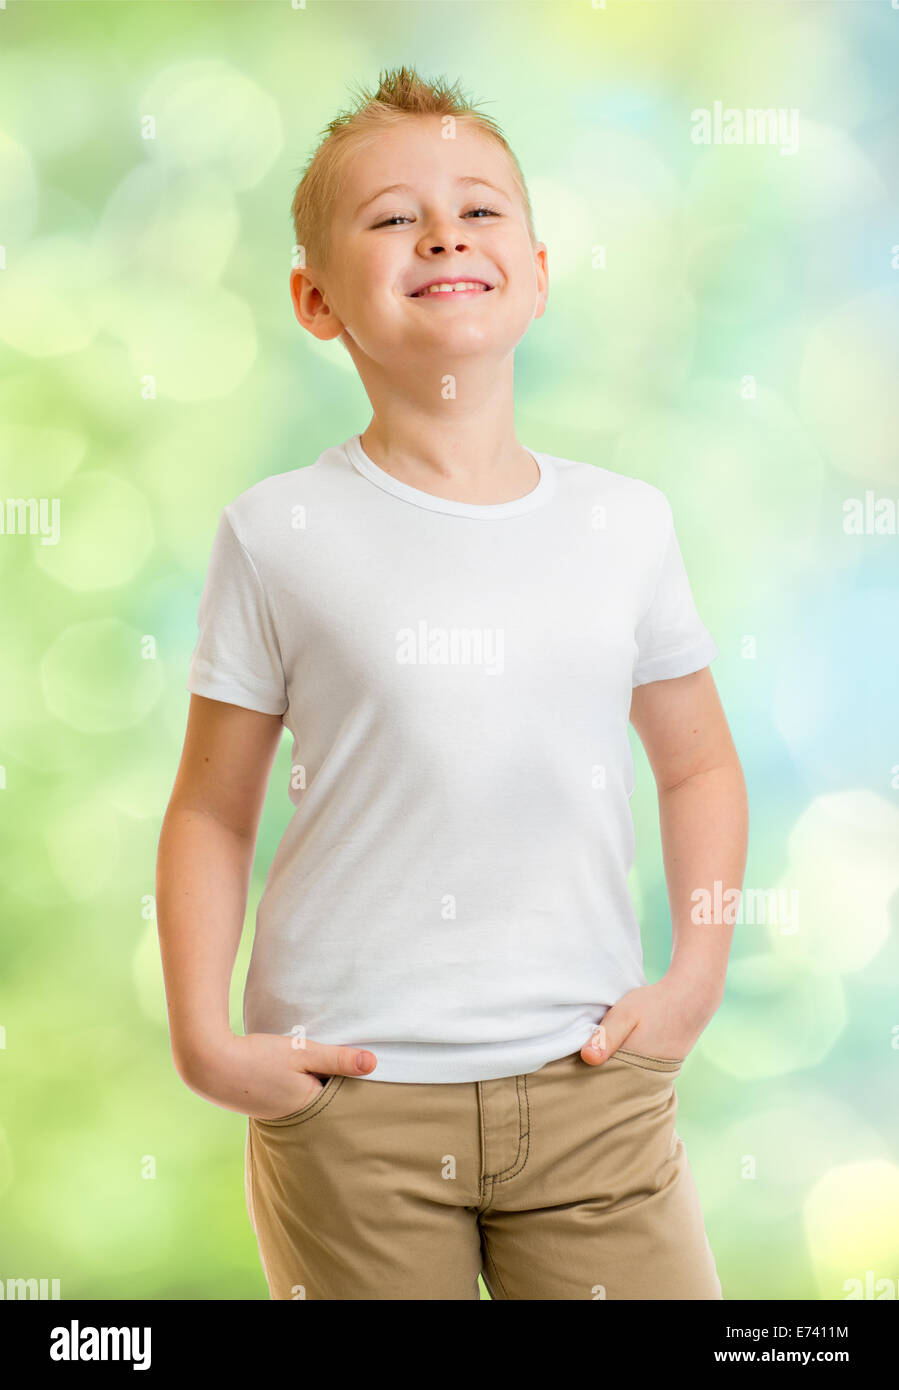
M 283 714 L 286 681 L 268 596 L 226 507 L 213 541 L 197 627 L 188 689 L 264 714 Z

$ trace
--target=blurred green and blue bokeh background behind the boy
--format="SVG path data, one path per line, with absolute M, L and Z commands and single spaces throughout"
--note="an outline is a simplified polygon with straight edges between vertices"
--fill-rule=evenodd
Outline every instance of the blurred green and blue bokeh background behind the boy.
M 549 247 L 518 438 L 671 499 L 749 784 L 746 888 L 798 894 L 798 930 L 738 927 L 678 1083 L 725 1297 L 842 1298 L 868 1270 L 895 1297 L 899 538 L 846 534 L 843 506 L 899 500 L 898 51 L 888 0 L 0 10 L 3 498 L 63 517 L 56 545 L 0 537 L 1 1280 L 268 1297 L 246 1122 L 171 1062 L 156 848 L 221 507 L 370 418 L 293 318 L 290 196 L 350 89 L 413 63 L 499 120 Z M 799 150 L 693 143 L 716 100 L 796 108 Z M 238 1031 L 288 767 L 285 739 Z

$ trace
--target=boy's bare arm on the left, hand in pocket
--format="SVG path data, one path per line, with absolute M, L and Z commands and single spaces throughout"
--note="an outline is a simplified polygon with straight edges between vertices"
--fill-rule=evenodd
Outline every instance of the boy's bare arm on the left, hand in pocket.
M 190 696 L 156 869 L 175 1069 L 204 1099 L 260 1119 L 310 1104 L 321 1076 L 364 1076 L 377 1065 L 352 1045 L 231 1031 L 231 976 L 282 727 L 278 714 Z

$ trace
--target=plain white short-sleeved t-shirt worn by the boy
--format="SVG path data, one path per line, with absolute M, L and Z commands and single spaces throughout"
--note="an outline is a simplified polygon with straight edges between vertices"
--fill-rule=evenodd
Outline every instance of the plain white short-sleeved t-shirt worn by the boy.
M 529 452 L 534 491 L 477 505 L 354 435 L 213 543 L 188 689 L 293 735 L 243 1024 L 370 1048 L 375 1081 L 534 1072 L 646 984 L 632 687 L 718 648 L 664 493 Z

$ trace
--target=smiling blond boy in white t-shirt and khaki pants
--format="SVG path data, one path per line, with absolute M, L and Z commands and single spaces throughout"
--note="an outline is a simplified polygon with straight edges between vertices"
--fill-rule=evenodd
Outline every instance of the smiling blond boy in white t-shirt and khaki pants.
M 493 1298 L 721 1298 L 674 1083 L 732 933 L 692 894 L 739 890 L 748 816 L 671 509 L 517 442 L 546 247 L 454 89 L 382 75 L 293 217 L 296 316 L 339 338 L 372 418 L 220 518 L 160 837 L 175 1065 L 249 1116 L 272 1298 L 477 1298 L 479 1273 Z M 674 926 L 654 984 L 628 714 Z M 285 726 L 295 812 L 235 1036 Z

